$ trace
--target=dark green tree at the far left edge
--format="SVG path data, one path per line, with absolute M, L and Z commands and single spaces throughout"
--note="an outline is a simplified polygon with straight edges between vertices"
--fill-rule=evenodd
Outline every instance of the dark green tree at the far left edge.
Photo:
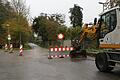
M 12 18 L 12 7 L 7 0 L 0 0 L 0 45 L 4 45 L 6 42 L 6 29 L 3 28 L 2 24 L 9 19 Z

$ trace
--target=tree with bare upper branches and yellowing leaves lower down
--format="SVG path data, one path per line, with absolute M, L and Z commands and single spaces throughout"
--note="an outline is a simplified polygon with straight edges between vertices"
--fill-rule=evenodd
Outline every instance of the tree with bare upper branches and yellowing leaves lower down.
M 28 16 L 29 16 L 29 7 L 26 6 L 26 0 L 11 0 L 10 2 L 12 8 L 13 8 L 13 18 L 11 20 L 7 20 L 9 23 L 14 23 L 15 25 L 15 33 L 14 41 L 17 39 L 19 41 L 19 37 L 22 37 L 22 43 L 25 44 L 28 42 L 31 28 L 28 23 Z M 15 20 L 15 21 L 14 21 Z M 12 26 L 12 25 L 11 25 Z

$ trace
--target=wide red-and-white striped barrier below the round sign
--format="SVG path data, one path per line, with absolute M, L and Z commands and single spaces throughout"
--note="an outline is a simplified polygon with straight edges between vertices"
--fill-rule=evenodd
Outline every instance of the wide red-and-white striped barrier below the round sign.
M 74 49 L 73 47 L 67 47 L 67 46 L 50 47 L 48 59 L 69 57 L 69 52 L 72 51 L 73 49 Z

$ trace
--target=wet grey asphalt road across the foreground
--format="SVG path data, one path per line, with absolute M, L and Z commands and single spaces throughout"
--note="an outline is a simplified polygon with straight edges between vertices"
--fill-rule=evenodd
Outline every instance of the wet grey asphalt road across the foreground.
M 18 56 L 0 51 L 0 80 L 120 80 L 120 69 L 101 73 L 94 58 L 47 59 L 47 50 L 34 46 Z

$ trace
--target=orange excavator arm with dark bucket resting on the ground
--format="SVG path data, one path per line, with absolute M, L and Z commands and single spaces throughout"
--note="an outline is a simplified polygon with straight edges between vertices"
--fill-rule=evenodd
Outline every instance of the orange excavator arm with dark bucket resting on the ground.
M 71 41 L 71 45 L 74 47 L 74 50 L 70 52 L 71 58 L 81 57 L 81 56 L 87 57 L 86 50 L 85 50 L 86 39 L 92 39 L 92 40 L 96 39 L 96 37 L 97 37 L 96 21 L 97 21 L 97 18 L 95 18 L 94 24 L 85 24 L 82 27 L 82 31 L 80 32 L 79 36 L 75 37 Z

